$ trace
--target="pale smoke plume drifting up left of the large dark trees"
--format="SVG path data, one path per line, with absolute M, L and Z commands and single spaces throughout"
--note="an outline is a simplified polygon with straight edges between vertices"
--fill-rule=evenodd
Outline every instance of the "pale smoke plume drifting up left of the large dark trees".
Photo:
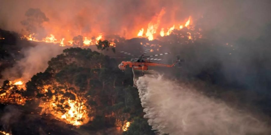
M 4 79 L 22 78 L 27 82 L 36 73 L 44 71 L 48 67 L 47 62 L 60 54 L 63 49 L 65 48 L 62 46 L 46 43 L 37 43 L 36 46 L 24 48 L 21 50 L 24 57 L 1 74 L 5 77 Z

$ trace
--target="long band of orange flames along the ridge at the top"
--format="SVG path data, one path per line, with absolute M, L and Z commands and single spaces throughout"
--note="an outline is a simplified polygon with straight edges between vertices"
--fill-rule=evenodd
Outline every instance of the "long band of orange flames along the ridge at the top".
M 120 35 L 126 39 L 129 38 L 136 38 L 136 37 L 144 37 L 148 38 L 149 41 L 152 41 L 154 39 L 168 36 L 170 35 L 173 30 L 181 30 L 183 28 L 190 29 L 192 28 L 192 19 L 191 16 L 187 16 L 186 19 L 183 21 L 169 21 L 167 24 L 162 24 L 161 20 L 163 19 L 164 14 L 166 13 L 165 8 L 162 8 L 159 13 L 154 15 L 151 19 L 151 21 L 148 24 L 140 24 L 139 26 L 135 26 L 136 28 L 141 27 L 140 29 L 129 29 L 129 35 Z M 65 32 L 57 31 L 60 28 L 58 25 L 50 25 L 50 22 L 47 22 L 44 24 L 45 29 L 50 33 L 46 37 L 42 39 L 38 39 L 39 33 L 30 33 L 29 35 L 24 35 L 21 37 L 21 39 L 26 39 L 29 41 L 36 41 L 36 42 L 46 42 L 46 43 L 55 43 L 59 44 L 60 46 L 73 46 L 75 43 L 74 38 L 77 35 L 74 35 L 74 33 L 80 33 L 82 31 L 81 29 L 77 29 L 78 32 L 70 32 L 69 26 L 63 27 L 61 29 L 66 30 Z M 61 26 L 62 27 L 62 26 Z M 95 30 L 94 30 L 95 31 Z M 115 46 L 114 39 L 105 38 L 107 35 L 118 35 L 118 33 L 104 33 L 102 31 L 98 31 L 90 33 L 80 33 L 82 35 L 83 40 L 83 46 L 89 46 L 89 45 L 95 45 L 98 44 L 99 40 L 107 39 L 110 41 L 110 46 Z M 192 39 L 191 36 L 189 36 L 189 39 Z

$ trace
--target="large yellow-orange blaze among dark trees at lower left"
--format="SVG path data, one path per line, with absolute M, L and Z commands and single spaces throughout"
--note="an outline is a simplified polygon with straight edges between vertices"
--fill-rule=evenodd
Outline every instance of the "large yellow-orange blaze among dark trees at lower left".
M 69 91 L 70 94 L 75 96 L 75 99 L 72 100 L 63 94 L 55 93 L 55 90 L 50 85 L 44 86 L 43 94 L 48 95 L 49 89 L 52 93 L 52 98 L 40 103 L 39 106 L 43 108 L 42 113 L 51 113 L 56 118 L 76 126 L 83 125 L 89 121 L 86 99 Z M 64 89 L 61 92 L 67 93 Z

